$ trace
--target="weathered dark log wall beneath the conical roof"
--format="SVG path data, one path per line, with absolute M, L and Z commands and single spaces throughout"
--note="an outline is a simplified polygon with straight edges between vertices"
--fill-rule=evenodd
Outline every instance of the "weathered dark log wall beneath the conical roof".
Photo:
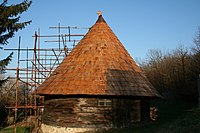
M 141 119 L 140 100 L 64 98 L 47 100 L 44 105 L 43 124 L 51 126 L 109 129 Z

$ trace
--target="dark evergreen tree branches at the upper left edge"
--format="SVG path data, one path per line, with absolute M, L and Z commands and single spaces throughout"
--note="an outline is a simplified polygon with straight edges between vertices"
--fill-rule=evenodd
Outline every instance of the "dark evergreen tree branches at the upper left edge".
M 8 0 L 0 4 L 0 49 L 8 44 L 8 39 L 14 37 L 18 30 L 25 28 L 31 21 L 19 22 L 20 14 L 27 11 L 32 1 L 25 0 L 19 4 L 7 5 Z M 5 67 L 12 58 L 11 53 L 7 58 L 0 60 L 0 74 L 5 73 Z M 0 79 L 0 88 L 8 78 Z

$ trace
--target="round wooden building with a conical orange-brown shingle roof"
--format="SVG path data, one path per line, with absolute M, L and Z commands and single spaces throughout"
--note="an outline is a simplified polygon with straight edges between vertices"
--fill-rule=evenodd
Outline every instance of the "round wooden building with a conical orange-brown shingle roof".
M 149 119 L 159 97 L 100 14 L 88 33 L 39 86 L 43 132 L 84 132 Z

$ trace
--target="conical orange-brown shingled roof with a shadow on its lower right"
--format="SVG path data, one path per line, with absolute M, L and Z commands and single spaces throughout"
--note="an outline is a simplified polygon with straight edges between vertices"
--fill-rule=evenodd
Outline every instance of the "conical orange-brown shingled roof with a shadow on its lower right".
M 102 15 L 38 94 L 159 96 Z

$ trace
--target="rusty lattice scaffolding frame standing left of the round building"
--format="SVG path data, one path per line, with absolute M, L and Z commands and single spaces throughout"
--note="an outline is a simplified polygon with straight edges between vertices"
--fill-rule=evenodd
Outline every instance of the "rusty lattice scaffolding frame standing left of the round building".
M 23 112 L 21 124 L 25 126 L 34 124 L 35 132 L 40 128 L 44 98 L 37 95 L 37 88 L 68 56 L 89 28 L 61 26 L 59 23 L 58 26 L 52 26 L 49 29 L 57 29 L 58 33 L 40 35 L 40 29 L 38 29 L 38 32 L 32 36 L 34 38 L 32 48 L 21 48 L 21 37 L 19 37 L 18 48 L 4 49 L 17 51 L 18 54 L 17 67 L 6 69 L 16 73 L 15 76 L 10 77 L 15 82 L 4 95 L 6 97 L 11 93 L 15 94 L 15 103 L 6 106 L 9 116 L 14 114 L 15 133 L 18 121 L 22 117 L 19 112 Z

